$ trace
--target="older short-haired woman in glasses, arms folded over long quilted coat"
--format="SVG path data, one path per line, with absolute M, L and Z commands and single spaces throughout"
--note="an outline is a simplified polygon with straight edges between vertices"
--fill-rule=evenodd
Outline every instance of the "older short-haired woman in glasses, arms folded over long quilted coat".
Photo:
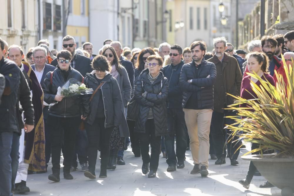
M 148 68 L 143 70 L 136 80 L 135 98 L 140 105 L 139 116 L 134 132 L 140 139 L 143 160 L 142 172 L 148 177 L 156 177 L 158 168 L 161 135 L 167 131 L 166 99 L 168 96 L 168 80 L 160 71 L 163 61 L 160 56 L 147 58 Z M 149 144 L 151 156 L 149 156 Z

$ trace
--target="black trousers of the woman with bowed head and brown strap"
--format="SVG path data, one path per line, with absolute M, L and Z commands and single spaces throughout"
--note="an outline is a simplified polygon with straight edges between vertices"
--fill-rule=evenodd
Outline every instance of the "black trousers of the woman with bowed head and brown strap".
M 105 128 L 105 118 L 96 118 L 93 125 L 86 123 L 86 131 L 88 135 L 88 162 L 89 171 L 95 172 L 98 147 L 100 147 L 101 170 L 107 168 L 110 148 L 109 142 L 113 127 Z

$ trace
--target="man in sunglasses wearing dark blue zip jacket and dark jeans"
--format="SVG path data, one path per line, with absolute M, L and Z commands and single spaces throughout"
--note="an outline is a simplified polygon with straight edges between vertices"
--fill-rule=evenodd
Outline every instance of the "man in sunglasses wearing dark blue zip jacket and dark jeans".
M 166 47 L 166 46 L 165 46 Z M 185 114 L 182 109 L 183 91 L 179 86 L 180 73 L 184 61 L 183 49 L 178 44 L 170 47 L 171 64 L 163 67 L 163 74 L 168 79 L 168 102 L 167 102 L 167 124 L 168 135 L 164 135 L 168 164 L 167 172 L 173 172 L 176 168 L 185 167 L 184 158 L 187 147 L 187 130 L 185 125 Z M 175 153 L 176 137 L 176 153 Z

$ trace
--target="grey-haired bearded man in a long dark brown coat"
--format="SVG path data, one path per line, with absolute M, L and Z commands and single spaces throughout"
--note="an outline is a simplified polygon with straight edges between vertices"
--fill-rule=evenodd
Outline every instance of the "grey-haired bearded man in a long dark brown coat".
M 229 136 L 231 133 L 229 129 L 226 129 L 225 133 L 223 133 L 223 128 L 226 124 L 230 125 L 235 122 L 234 120 L 224 117 L 236 115 L 235 111 L 224 110 L 224 108 L 227 108 L 228 105 L 234 102 L 233 98 L 227 93 L 240 96 L 242 73 L 238 61 L 233 56 L 225 54 L 225 50 L 227 49 L 226 39 L 224 37 L 215 38 L 213 39 L 213 44 L 216 53 L 212 58 L 208 59 L 208 61 L 216 65 L 217 74 L 216 82 L 214 83 L 214 111 L 212 113 L 210 131 L 218 158 L 215 164 L 221 165 L 225 163 L 225 140 L 230 140 Z M 240 152 L 240 150 L 237 150 L 240 144 L 232 143 L 235 139 L 238 138 L 233 138 L 227 145 L 231 165 L 238 164 L 237 158 Z

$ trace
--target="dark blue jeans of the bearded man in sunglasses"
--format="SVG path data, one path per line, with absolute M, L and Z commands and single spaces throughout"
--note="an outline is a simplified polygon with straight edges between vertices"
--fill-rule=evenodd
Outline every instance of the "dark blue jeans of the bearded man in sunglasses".
M 185 113 L 183 109 L 167 109 L 168 135 L 164 135 L 168 165 L 176 166 L 177 163 L 184 163 L 187 147 L 187 129 L 185 123 Z M 176 152 L 175 152 L 176 136 Z

